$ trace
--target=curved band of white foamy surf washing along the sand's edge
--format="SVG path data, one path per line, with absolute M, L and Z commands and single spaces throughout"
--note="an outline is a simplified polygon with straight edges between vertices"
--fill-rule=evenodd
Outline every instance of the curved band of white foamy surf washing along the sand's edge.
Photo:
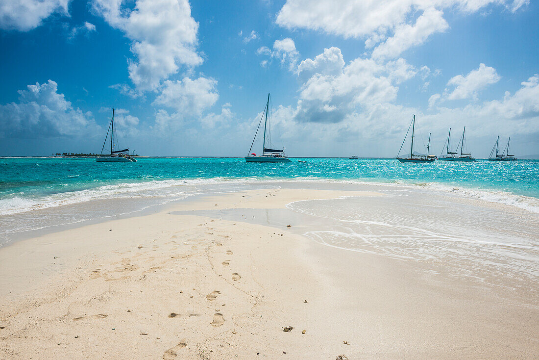
M 378 181 L 360 181 L 360 180 L 351 180 L 351 179 L 310 179 L 310 178 L 297 178 L 297 179 L 245 179 L 245 178 L 238 178 L 238 179 L 227 179 L 223 180 L 222 178 L 212 178 L 212 179 L 178 179 L 178 180 L 155 180 L 154 182 L 159 183 L 156 188 L 151 188 L 151 181 L 144 181 L 140 183 L 126 183 L 126 184 L 118 184 L 115 185 L 115 187 L 118 187 L 119 192 L 118 193 L 110 193 L 108 196 L 112 196 L 110 198 L 103 198 L 102 194 L 98 192 L 95 193 L 95 197 L 92 198 L 92 195 L 87 195 L 87 192 L 94 192 L 98 189 L 86 189 L 84 191 L 75 191 L 75 192 L 67 192 L 63 194 L 54 194 L 51 196 L 54 196 L 54 203 L 51 205 L 39 205 L 37 209 L 33 210 L 20 210 L 15 213 L 7 213 L 0 215 L 0 220 L 6 221 L 6 219 L 9 219 L 12 223 L 32 223 L 32 221 L 27 220 L 25 216 L 29 216 L 32 218 L 33 215 L 36 215 L 38 213 L 42 212 L 49 212 L 50 214 L 44 213 L 43 215 L 38 216 L 39 219 L 45 219 L 46 216 L 48 216 L 51 219 L 58 218 L 54 214 L 55 211 L 59 211 L 60 209 L 63 209 L 64 212 L 66 212 L 66 209 L 73 209 L 73 214 L 80 213 L 80 209 L 82 207 L 87 208 L 109 208 L 113 209 L 114 206 L 111 206 L 110 204 L 113 204 L 115 202 L 120 201 L 129 201 L 128 208 L 129 210 L 125 210 L 125 208 L 121 208 L 122 211 L 126 211 L 123 213 L 115 213 L 113 210 L 110 210 L 110 214 L 101 215 L 98 218 L 92 217 L 92 218 L 81 218 L 81 219 L 75 219 L 70 220 L 70 222 L 64 222 L 64 223 L 39 223 L 34 228 L 30 229 L 10 229 L 5 227 L 5 223 L 2 223 L 0 221 L 0 228 L 4 227 L 5 230 L 5 239 L 0 239 L 0 248 L 4 246 L 9 246 L 10 243 L 14 241 L 19 241 L 23 239 L 27 239 L 29 237 L 35 236 L 36 234 L 39 234 L 39 232 L 46 232 L 50 233 L 51 231 L 61 231 L 65 228 L 74 228 L 79 226 L 84 226 L 90 223 L 96 223 L 96 222 L 102 222 L 102 221 L 108 221 L 110 219 L 117 219 L 117 218 L 125 218 L 130 216 L 140 216 L 147 213 L 152 213 L 155 211 L 159 211 L 160 209 L 164 209 L 168 206 L 170 203 L 175 203 L 177 201 L 183 201 L 185 198 L 190 198 L 192 196 L 205 196 L 205 192 L 211 193 L 212 192 L 212 186 L 217 188 L 218 192 L 229 192 L 234 191 L 234 186 L 240 186 L 240 187 L 265 187 L 265 186 L 285 186 L 285 187 L 291 187 L 295 185 L 312 185 L 312 186 L 334 186 L 334 187 L 358 187 L 358 188 L 365 188 L 368 189 L 368 191 L 371 191 L 372 188 L 377 187 L 389 187 L 389 188 L 395 188 L 395 189 L 416 189 L 416 190 L 424 190 L 427 193 L 444 193 L 450 196 L 455 196 L 455 198 L 462 198 L 464 201 L 484 201 L 491 205 L 485 205 L 485 206 L 495 206 L 495 207 L 505 207 L 508 208 L 519 208 L 521 210 L 524 210 L 526 212 L 532 213 L 532 214 L 539 214 L 539 198 L 534 198 L 533 196 L 524 196 L 524 195 L 517 195 L 513 193 L 507 193 L 503 191 L 491 191 L 488 189 L 477 189 L 477 188 L 467 188 L 467 187 L 460 187 L 457 185 L 451 185 L 451 184 L 441 184 L 439 182 L 430 182 L 430 183 L 412 183 L 409 184 L 407 182 L 402 181 L 392 181 L 392 182 L 378 182 Z M 140 185 L 141 188 L 136 187 L 137 185 Z M 230 186 L 231 189 L 226 188 L 219 188 L 219 186 Z M 111 186 L 105 186 L 105 187 L 111 187 Z M 113 186 L 114 187 L 114 186 Z M 127 189 L 124 189 L 127 187 Z M 178 190 L 175 190 L 178 189 Z M 185 190 L 185 191 L 183 191 Z M 108 190 L 112 191 L 112 190 Z M 148 193 L 149 191 L 153 191 L 155 193 Z M 78 199 L 75 199 L 78 193 L 84 193 L 84 197 L 88 197 L 88 200 L 80 201 Z M 58 196 L 67 196 L 65 199 L 58 199 Z M 71 199 L 69 196 L 75 198 Z M 82 196 L 82 195 L 80 195 Z M 133 198 L 133 196 L 135 196 Z M 135 202 L 135 199 L 140 199 L 140 201 Z M 154 203 L 148 202 L 148 200 L 154 201 Z M 95 205 L 94 205 L 95 204 Z M 33 207 L 36 207 L 37 205 L 33 205 Z M 118 206 L 116 206 L 118 207 Z M 126 207 L 127 208 L 127 207 Z M 87 210 L 88 216 L 90 214 L 94 215 L 91 210 Z M 69 215 L 67 213 L 67 215 Z M 19 220 L 19 217 L 20 220 Z M 3 218 L 3 219 L 2 219 Z M 7 234 L 14 234 L 14 235 L 7 235 Z

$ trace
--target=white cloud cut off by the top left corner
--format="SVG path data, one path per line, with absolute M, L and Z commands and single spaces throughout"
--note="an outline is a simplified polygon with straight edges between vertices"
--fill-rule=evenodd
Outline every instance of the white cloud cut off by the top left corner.
M 29 31 L 58 12 L 68 16 L 70 0 L 0 0 L 0 29 Z

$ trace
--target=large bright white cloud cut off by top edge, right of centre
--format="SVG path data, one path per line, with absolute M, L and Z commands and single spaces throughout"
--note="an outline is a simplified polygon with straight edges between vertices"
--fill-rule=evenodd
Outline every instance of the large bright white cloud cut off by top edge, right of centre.
M 366 49 L 375 48 L 372 58 L 383 59 L 396 58 L 410 47 L 425 43 L 433 33 L 445 31 L 448 24 L 443 18 L 444 9 L 471 13 L 495 4 L 514 12 L 527 3 L 527 0 L 318 0 L 314 3 L 287 0 L 276 22 L 288 29 L 363 38 Z

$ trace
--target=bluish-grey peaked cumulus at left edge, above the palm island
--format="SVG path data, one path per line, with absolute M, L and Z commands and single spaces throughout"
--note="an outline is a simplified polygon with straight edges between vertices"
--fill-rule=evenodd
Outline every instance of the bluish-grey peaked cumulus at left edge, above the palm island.
M 18 103 L 0 105 L 2 137 L 52 138 L 98 133 L 91 112 L 82 112 L 58 93 L 52 80 L 19 90 Z

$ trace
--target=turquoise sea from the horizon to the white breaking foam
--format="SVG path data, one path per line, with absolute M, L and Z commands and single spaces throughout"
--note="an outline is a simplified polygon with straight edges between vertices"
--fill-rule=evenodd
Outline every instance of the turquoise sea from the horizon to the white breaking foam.
M 2 158 L 0 215 L 182 184 L 272 179 L 418 185 L 533 212 L 539 209 L 539 160 L 435 161 L 428 165 L 401 164 L 395 159 L 296 160 L 247 164 L 243 158 L 139 158 L 135 163 L 110 164 L 93 158 Z

